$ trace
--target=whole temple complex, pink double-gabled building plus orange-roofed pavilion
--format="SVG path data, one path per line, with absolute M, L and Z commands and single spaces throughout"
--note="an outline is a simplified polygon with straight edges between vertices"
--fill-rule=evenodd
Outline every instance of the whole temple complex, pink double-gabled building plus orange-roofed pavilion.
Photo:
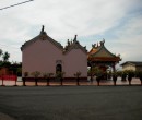
M 25 41 L 22 47 L 22 76 L 35 71 L 44 73 L 63 72 L 64 79 L 72 80 L 76 72 L 81 72 L 81 79 L 87 80 L 87 67 L 98 67 L 104 72 L 111 68 L 116 71 L 116 64 L 121 61 L 120 55 L 116 56 L 107 50 L 105 40 L 99 44 L 92 45 L 92 49 L 87 52 L 86 48 L 81 46 L 76 39 L 67 41 L 63 48 L 60 43 L 56 41 L 47 35 L 44 26 L 36 37 Z

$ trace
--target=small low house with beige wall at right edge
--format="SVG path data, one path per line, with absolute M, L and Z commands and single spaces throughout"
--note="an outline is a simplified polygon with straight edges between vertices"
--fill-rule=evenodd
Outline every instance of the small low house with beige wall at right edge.
M 133 70 L 133 71 L 142 71 L 142 62 L 141 61 L 127 61 L 121 64 L 122 70 Z

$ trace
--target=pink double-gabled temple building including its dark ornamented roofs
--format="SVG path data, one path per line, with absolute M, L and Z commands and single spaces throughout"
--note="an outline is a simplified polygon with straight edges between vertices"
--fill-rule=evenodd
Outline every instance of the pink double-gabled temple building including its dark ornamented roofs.
M 64 72 L 64 77 L 74 77 L 74 73 L 81 72 L 81 77 L 87 77 L 87 51 L 76 40 L 68 40 L 63 48 L 60 43 L 54 40 L 44 31 L 38 36 L 24 43 L 22 50 L 22 75 L 34 71 L 40 73 Z

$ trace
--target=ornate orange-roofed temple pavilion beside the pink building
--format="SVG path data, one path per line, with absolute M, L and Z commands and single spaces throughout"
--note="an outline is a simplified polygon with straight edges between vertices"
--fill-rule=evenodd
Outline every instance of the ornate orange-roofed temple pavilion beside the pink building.
M 113 71 L 116 71 L 116 64 L 121 61 L 120 55 L 116 56 L 107 50 L 105 47 L 105 40 L 98 44 L 92 45 L 92 49 L 87 53 L 88 67 L 98 67 L 103 71 L 106 71 L 108 68 L 111 68 Z

